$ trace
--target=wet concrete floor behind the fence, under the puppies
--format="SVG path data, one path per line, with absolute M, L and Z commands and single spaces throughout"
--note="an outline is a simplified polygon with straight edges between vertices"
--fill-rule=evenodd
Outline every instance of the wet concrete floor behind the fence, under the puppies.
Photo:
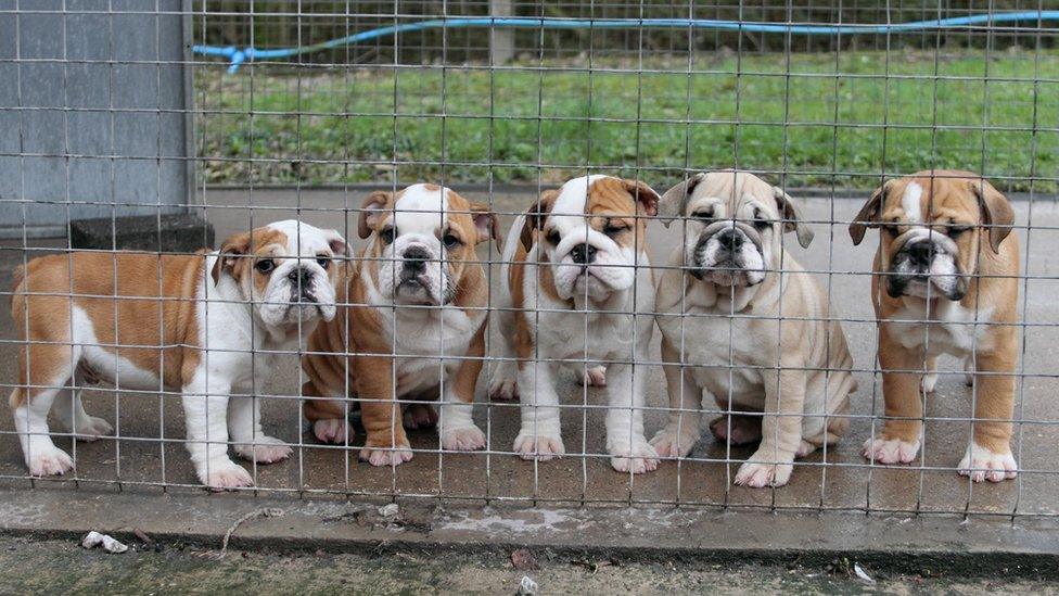
M 467 194 L 472 199 L 488 200 L 483 193 Z M 333 210 L 357 207 L 363 195 L 363 192 L 259 190 L 251 199 L 244 191 L 209 191 L 206 194 L 209 207 L 204 210 L 204 215 L 216 226 L 217 238 L 221 239 L 235 230 L 246 229 L 251 212 L 244 207 L 251 200 L 256 206 L 254 225 L 292 216 L 295 213 L 292 205 L 301 204 L 305 220 L 350 230 L 349 236 L 355 237 L 357 214 L 343 215 Z M 525 193 L 499 193 L 495 195 L 495 205 L 497 211 L 521 212 L 532 200 Z M 442 456 L 436 453 L 435 432 L 413 431 L 410 433 L 412 446 L 422 451 L 395 470 L 358 462 L 355 449 L 317 444 L 299 419 L 297 400 L 268 398 L 264 406 L 266 431 L 291 442 L 296 451 L 290 461 L 257 467 L 254 473 L 258 486 L 295 494 L 321 491 L 357 495 L 439 495 L 452 497 L 454 502 L 468 498 L 474 504 L 488 498 L 560 502 L 564 505 L 594 500 L 680 502 L 872 511 L 1059 513 L 1059 404 L 1056 402 L 1059 381 L 1054 377 L 1059 335 L 1052 328 L 1059 325 L 1059 303 L 1052 294 L 1059 291 L 1059 278 L 1056 277 L 1059 270 L 1059 208 L 1056 204 L 1050 201 L 1033 203 L 1034 229 L 1029 234 L 1026 230 L 1019 231 L 1023 248 L 1029 242 L 1030 253 L 1031 279 L 1023 286 L 1023 316 L 1033 325 L 1024 330 L 1025 357 L 1021 366 L 1026 377 L 1020 383 L 1016 410 L 1022 423 L 1016 428 L 1013 446 L 1023 471 L 1015 481 L 980 485 L 971 485 L 955 472 L 967 444 L 969 424 L 946 418 L 970 416 L 971 405 L 970 390 L 964 386 L 959 365 L 954 360 L 942 362 L 943 375 L 936 394 L 927 405 L 931 420 L 927 424 L 923 458 L 913 466 L 869 468 L 860 457 L 860 445 L 869 436 L 872 423 L 877 423 L 870 415 L 882 413 L 879 378 L 870 372 L 875 362 L 876 331 L 871 322 L 869 278 L 864 275 L 870 269 L 875 232 L 869 232 L 864 245 L 854 248 L 845 225 L 827 224 L 829 220 L 849 221 L 859 208 L 859 200 L 808 199 L 803 204 L 806 218 L 817 221 L 812 224 L 816 240 L 807 250 L 798 248 L 793 237 L 788 237 L 787 244 L 806 268 L 831 271 L 817 277 L 821 283 L 830 286 L 835 310 L 851 319 L 844 324 L 844 329 L 855 365 L 867 371 L 856 373 L 859 390 L 852 396 L 852 414 L 860 417 L 853 420 L 838 446 L 828 451 L 827 466 L 822 465 L 821 453 L 811 455 L 795 467 L 788 486 L 778 490 L 732 486 L 738 464 L 750 455 L 751 449 L 731 449 L 730 464 L 726 464 L 725 447 L 709 438 L 709 433 L 697 446 L 692 460 L 665 461 L 659 470 L 636 478 L 613 471 L 602 455 L 602 411 L 579 407 L 586 398 L 573 376 L 563 379 L 561 389 L 564 403 L 571 405 L 563 413 L 563 438 L 570 455 L 540 464 L 522 461 L 505 453 L 510 451 L 518 432 L 518 409 L 510 404 L 488 403 L 485 397 L 487 372 L 479 382 L 475 419 L 487 430 L 489 449 Z M 1028 202 L 1016 204 L 1020 225 L 1031 220 L 1030 210 Z M 505 230 L 511 219 L 510 215 L 501 217 Z M 666 230 L 656 223 L 650 225 L 648 233 L 655 263 L 660 263 L 679 241 L 679 232 Z M 359 245 L 360 241 L 356 243 Z M 44 244 L 47 242 L 40 245 Z M 23 258 L 21 244 L 8 243 L 7 246 L 9 249 L 0 251 L 0 288 L 3 289 L 10 288 L 12 267 Z M 496 253 L 490 254 L 495 258 Z M 486 251 L 483 250 L 481 255 L 485 257 Z M 0 318 L 0 337 L 4 340 L 14 338 L 7 317 Z M 653 344 L 652 358 L 656 359 L 656 332 Z M 16 382 L 14 362 L 14 346 L 10 343 L 0 345 L 0 382 L 5 386 Z M 648 405 L 665 407 L 667 401 L 661 369 L 645 366 L 638 370 L 648 376 Z M 292 356 L 282 363 L 267 393 L 296 396 L 299 385 L 299 369 Z M 602 395 L 590 390 L 587 403 L 601 405 Z M 145 486 L 166 483 L 188 485 L 188 491 L 197 491 L 193 487 L 194 474 L 182 446 L 160 442 L 162 436 L 167 441 L 179 441 L 183 436 L 182 410 L 177 397 L 117 395 L 93 390 L 86 392 L 86 407 L 91 414 L 114 423 L 119 429 L 120 439 L 76 445 L 75 478 L 79 485 L 122 482 L 129 490 L 154 492 L 157 489 Z M 160 416 L 160 410 L 164 417 Z M 661 409 L 652 410 L 646 418 L 650 438 L 662 427 L 665 414 Z M 357 432 L 355 443 L 360 444 L 362 430 L 358 428 Z M 25 478 L 26 470 L 17 439 L 12 434 L 10 417 L 0 417 L 0 433 L 2 485 L 28 486 L 30 481 Z M 56 443 L 66 449 L 74 448 L 68 439 L 59 439 Z M 72 484 L 69 480 L 36 483 L 48 489 Z M 170 487 L 171 492 L 180 490 Z

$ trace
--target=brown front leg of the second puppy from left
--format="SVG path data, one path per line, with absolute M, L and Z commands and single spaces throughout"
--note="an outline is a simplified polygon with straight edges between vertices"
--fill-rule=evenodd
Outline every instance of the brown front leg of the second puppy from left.
M 393 366 L 390 356 L 356 362 L 357 395 L 363 400 L 360 420 L 368 433 L 360 460 L 372 466 L 397 466 L 412 458 L 400 408 L 394 402 Z

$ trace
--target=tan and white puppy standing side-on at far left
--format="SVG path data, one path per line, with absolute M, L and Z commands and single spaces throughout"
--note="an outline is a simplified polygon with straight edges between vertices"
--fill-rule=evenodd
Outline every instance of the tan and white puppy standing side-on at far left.
M 214 489 L 252 485 L 228 458 L 229 436 L 237 454 L 258 464 L 291 454 L 261 432 L 254 395 L 275 367 L 252 351 L 298 350 L 319 319 L 334 317 L 336 255 L 347 256 L 336 231 L 288 220 L 234 234 L 220 252 L 80 252 L 20 267 L 12 315 L 26 343 L 11 407 L 29 472 L 74 467 L 48 434 L 53 403 L 78 439 L 111 432 L 81 404 L 78 388 L 88 378 L 181 392 L 199 480 Z

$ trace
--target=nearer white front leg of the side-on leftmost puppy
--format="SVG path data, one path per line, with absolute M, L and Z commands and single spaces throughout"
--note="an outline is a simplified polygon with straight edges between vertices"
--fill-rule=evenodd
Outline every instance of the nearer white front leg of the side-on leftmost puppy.
M 231 383 L 227 379 L 203 379 L 200 369 L 183 386 L 183 413 L 188 426 L 188 453 L 195 465 L 199 481 L 222 491 L 253 486 L 250 472 L 228 458 L 228 400 Z

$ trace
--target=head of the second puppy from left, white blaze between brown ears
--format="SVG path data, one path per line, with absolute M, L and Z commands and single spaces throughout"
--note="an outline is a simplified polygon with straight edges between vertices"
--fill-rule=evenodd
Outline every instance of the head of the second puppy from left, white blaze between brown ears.
M 470 266 L 474 248 L 496 237 L 496 217 L 450 189 L 420 183 L 399 192 L 374 192 L 363 203 L 361 238 L 377 290 L 394 304 L 446 305 Z

